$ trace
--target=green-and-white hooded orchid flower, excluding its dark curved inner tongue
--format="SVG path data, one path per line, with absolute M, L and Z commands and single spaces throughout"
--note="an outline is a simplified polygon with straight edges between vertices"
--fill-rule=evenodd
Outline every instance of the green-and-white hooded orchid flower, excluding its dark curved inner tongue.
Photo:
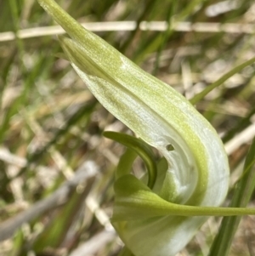
M 166 171 L 150 185 L 131 174 L 116 179 L 112 223 L 135 256 L 175 255 L 205 216 L 255 213 L 217 208 L 229 187 L 228 159 L 218 134 L 188 100 L 84 29 L 54 1 L 38 2 L 71 37 L 59 42 L 94 96 L 167 160 Z

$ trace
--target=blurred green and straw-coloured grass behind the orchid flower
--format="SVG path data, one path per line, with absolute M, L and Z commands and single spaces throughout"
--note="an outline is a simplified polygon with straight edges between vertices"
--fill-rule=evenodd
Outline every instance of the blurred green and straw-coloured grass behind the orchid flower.
M 56 2 L 188 99 L 254 57 L 252 0 Z M 0 0 L 0 255 L 117 255 L 112 185 L 124 148 L 101 134 L 129 131 L 57 57 L 55 26 L 36 0 Z M 196 105 L 224 140 L 230 188 L 255 134 L 254 103 L 249 65 Z M 178 255 L 207 255 L 219 221 Z M 242 219 L 230 255 L 255 255 L 254 226 Z

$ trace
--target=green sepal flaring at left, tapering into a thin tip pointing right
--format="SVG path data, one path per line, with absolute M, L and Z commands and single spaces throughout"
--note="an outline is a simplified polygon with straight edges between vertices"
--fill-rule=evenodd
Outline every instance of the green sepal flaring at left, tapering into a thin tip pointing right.
M 116 200 L 112 221 L 148 219 L 158 216 L 235 216 L 255 214 L 255 208 L 197 207 L 163 200 L 132 174 L 115 183 Z

